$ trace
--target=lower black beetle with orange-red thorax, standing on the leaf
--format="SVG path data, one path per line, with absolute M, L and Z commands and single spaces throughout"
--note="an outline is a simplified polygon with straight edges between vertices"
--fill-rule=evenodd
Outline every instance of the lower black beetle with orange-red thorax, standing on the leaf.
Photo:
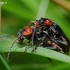
M 19 32 L 18 32 L 17 39 L 13 42 L 12 46 L 14 45 L 14 43 L 17 40 L 18 40 L 19 44 L 22 44 L 24 38 L 27 38 L 28 43 L 27 43 L 27 46 L 25 48 L 25 52 L 28 49 L 28 45 L 29 45 L 30 41 L 32 41 L 32 46 L 35 45 L 35 47 L 33 47 L 32 52 L 34 52 L 37 49 L 38 46 L 45 47 L 45 45 L 46 45 L 46 48 L 62 51 L 62 48 L 60 48 L 60 46 L 58 46 L 56 43 L 54 43 L 49 38 L 48 33 L 45 32 L 45 31 L 42 31 L 38 27 L 39 26 L 37 26 L 37 23 L 36 23 L 35 26 L 25 26 L 24 28 L 20 29 Z M 49 45 L 49 47 L 47 47 L 48 45 Z M 7 56 L 7 60 L 9 58 L 12 46 L 10 47 L 10 50 L 9 50 L 9 53 L 8 53 L 8 56 Z

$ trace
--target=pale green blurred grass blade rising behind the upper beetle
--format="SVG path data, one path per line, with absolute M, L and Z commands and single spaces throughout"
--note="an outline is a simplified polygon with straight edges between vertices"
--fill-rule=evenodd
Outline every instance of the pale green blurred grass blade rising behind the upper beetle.
M 41 0 L 36 19 L 45 17 L 50 0 Z

